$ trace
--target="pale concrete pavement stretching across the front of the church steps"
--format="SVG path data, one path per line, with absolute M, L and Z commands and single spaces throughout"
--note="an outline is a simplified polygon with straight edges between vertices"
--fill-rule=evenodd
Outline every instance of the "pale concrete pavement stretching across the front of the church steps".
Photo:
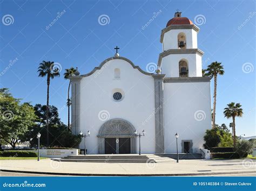
M 30 172 L 59 175 L 123 175 L 123 176 L 174 176 L 174 175 L 214 175 L 256 173 L 256 161 L 235 160 L 176 160 L 147 163 L 97 163 L 97 162 L 59 162 L 50 159 L 0 160 L 0 169 L 7 172 Z

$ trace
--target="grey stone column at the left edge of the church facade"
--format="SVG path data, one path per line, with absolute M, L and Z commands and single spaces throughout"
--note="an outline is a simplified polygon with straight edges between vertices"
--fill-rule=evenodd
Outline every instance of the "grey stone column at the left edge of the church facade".
M 74 135 L 80 131 L 80 81 L 82 76 L 71 77 L 71 130 Z

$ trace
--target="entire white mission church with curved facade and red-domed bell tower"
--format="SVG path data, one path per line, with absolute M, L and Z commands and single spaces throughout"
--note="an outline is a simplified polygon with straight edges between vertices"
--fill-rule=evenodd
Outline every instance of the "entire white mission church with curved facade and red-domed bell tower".
M 90 131 L 87 154 L 139 153 L 143 130 L 142 153 L 176 153 L 176 133 L 179 153 L 203 148 L 211 128 L 211 77 L 202 77 L 198 32 L 176 12 L 161 31 L 156 73 L 116 53 L 90 73 L 71 77 L 72 133 Z

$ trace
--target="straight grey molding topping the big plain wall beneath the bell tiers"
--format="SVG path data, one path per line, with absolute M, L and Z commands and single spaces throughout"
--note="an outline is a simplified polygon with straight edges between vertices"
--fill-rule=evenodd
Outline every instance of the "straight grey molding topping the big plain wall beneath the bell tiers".
M 164 83 L 210 82 L 212 77 L 165 77 Z

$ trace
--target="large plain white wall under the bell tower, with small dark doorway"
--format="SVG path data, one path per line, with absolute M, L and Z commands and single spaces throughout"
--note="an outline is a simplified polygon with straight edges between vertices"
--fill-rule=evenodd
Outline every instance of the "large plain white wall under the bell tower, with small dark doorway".
M 210 82 L 164 83 L 165 152 L 176 153 L 175 133 L 193 141 L 193 152 L 203 148 L 206 129 L 211 128 Z

